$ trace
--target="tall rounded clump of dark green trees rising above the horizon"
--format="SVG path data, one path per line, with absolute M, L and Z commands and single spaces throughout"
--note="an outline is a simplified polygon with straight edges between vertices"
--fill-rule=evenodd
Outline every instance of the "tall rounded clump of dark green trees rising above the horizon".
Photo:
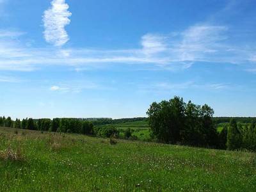
M 164 143 L 216 147 L 218 134 L 212 122 L 214 111 L 174 97 L 154 102 L 147 111 L 152 134 Z

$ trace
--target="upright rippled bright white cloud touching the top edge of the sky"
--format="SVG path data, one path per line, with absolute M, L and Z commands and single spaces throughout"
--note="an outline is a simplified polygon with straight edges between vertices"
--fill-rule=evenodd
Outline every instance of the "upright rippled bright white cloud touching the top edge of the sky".
M 65 0 L 53 0 L 51 8 L 44 12 L 44 37 L 45 40 L 55 46 L 61 46 L 68 42 L 68 34 L 65 26 L 70 24 L 68 19 L 72 13 L 68 11 Z

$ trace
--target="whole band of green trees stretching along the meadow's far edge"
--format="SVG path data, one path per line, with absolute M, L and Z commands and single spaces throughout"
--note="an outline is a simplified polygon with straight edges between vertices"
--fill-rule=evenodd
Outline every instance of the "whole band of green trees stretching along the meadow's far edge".
M 19 119 L 13 121 L 10 117 L 0 116 L 0 127 L 131 139 L 131 129 L 123 131 L 124 134 L 121 136 L 122 130 L 116 129 L 111 124 L 147 120 L 152 140 L 162 143 L 256 151 L 256 118 L 213 118 L 214 110 L 207 104 L 199 106 L 191 101 L 186 103 L 180 97 L 163 100 L 159 103 L 153 102 L 147 115 L 148 118 L 119 120 L 95 118 L 92 121 L 82 118 L 54 118 L 52 120 L 49 118 L 24 118 L 21 121 Z M 230 121 L 229 124 L 227 120 Z M 237 120 L 241 120 L 241 122 L 237 123 Z M 248 124 L 249 120 L 250 124 Z M 223 129 L 218 132 L 216 124 L 221 123 L 224 123 Z M 110 124 L 110 126 L 97 127 L 93 124 Z

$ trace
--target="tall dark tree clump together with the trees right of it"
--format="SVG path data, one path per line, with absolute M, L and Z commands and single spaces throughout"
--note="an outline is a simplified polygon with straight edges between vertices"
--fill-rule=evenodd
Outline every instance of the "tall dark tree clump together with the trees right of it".
M 180 97 L 153 102 L 147 115 L 152 137 L 163 143 L 256 150 L 254 118 L 250 126 L 237 124 L 236 118 L 229 118 L 230 125 L 218 132 L 212 117 L 214 110 L 210 106 L 186 103 Z

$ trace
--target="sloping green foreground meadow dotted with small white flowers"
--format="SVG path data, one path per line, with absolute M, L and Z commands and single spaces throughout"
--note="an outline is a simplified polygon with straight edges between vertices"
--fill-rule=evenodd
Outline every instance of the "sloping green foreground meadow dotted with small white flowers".
M 256 191 L 256 156 L 0 128 L 1 191 Z

